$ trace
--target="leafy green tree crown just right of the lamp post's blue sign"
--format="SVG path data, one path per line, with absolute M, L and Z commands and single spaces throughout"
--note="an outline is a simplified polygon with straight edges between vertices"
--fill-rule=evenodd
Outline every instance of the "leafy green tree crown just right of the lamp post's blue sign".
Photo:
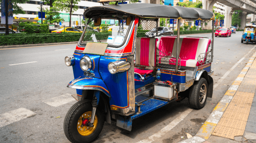
M 50 7 L 50 9 L 44 9 L 43 10 L 45 12 L 45 14 L 47 15 L 46 18 L 45 18 L 45 21 L 47 21 L 47 23 L 49 24 L 56 24 L 56 23 L 59 23 L 59 22 L 63 22 L 64 21 L 64 18 L 61 18 L 59 16 L 59 9 L 55 8 L 55 7 Z

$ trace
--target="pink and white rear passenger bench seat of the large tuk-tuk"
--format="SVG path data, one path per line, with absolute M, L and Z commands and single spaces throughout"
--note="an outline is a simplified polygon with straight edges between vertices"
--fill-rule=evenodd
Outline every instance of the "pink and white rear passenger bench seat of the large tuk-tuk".
M 176 62 L 175 58 L 171 60 L 165 60 L 163 56 L 176 57 L 176 47 L 177 47 L 177 37 L 156 37 L 158 38 L 157 47 L 157 60 L 161 61 L 173 61 Z M 186 67 L 196 67 L 202 65 L 203 61 L 197 62 L 197 57 L 208 51 L 208 47 L 211 44 L 210 39 L 206 38 L 180 38 L 179 41 L 179 55 L 181 60 L 179 61 L 181 66 Z M 164 54 L 163 54 L 164 53 Z M 166 54 L 166 55 L 165 55 Z M 205 61 L 205 59 L 204 59 Z M 168 64 L 167 62 L 162 62 Z M 170 65 L 175 65 L 175 63 L 169 63 Z M 179 65 L 180 65 L 179 64 Z

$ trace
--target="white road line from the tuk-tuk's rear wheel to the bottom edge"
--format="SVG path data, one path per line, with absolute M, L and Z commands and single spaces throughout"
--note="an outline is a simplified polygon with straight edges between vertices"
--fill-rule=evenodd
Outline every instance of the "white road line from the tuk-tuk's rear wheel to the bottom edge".
M 158 138 L 161 138 L 163 135 L 169 132 L 172 128 L 178 125 L 180 121 L 182 121 L 191 111 L 193 111 L 193 109 L 187 109 L 186 111 L 182 112 L 177 118 L 175 118 L 170 124 L 162 128 L 160 131 L 151 135 L 150 137 L 148 137 L 148 139 L 144 139 L 137 143 L 151 143 L 157 140 Z

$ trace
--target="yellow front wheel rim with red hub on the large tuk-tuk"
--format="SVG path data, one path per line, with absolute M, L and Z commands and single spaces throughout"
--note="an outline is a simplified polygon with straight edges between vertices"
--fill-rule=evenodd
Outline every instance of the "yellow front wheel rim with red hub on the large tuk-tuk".
M 84 118 L 84 119 L 90 118 L 91 119 L 91 111 L 87 111 L 84 114 L 82 114 L 77 121 L 77 131 L 83 136 L 90 135 L 91 133 L 94 132 L 94 130 L 96 129 L 96 127 L 98 125 L 98 117 L 97 117 L 97 115 L 95 115 L 93 127 L 88 127 L 88 126 L 81 127 L 82 121 L 83 121 L 82 118 Z M 90 121 L 90 119 L 89 119 L 89 121 Z

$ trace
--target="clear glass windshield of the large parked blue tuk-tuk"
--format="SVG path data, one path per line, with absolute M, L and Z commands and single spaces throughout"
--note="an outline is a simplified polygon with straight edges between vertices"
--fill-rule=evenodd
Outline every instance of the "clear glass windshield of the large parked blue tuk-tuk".
M 102 19 L 99 27 L 93 26 L 93 24 L 87 26 L 85 34 L 83 35 L 81 42 L 86 44 L 88 41 L 108 43 L 108 45 L 119 46 L 126 39 L 126 33 L 128 32 L 129 26 L 126 25 L 126 20 L 115 20 L 116 25 L 107 25 L 106 21 L 109 19 Z M 111 30 L 110 30 L 111 29 Z

